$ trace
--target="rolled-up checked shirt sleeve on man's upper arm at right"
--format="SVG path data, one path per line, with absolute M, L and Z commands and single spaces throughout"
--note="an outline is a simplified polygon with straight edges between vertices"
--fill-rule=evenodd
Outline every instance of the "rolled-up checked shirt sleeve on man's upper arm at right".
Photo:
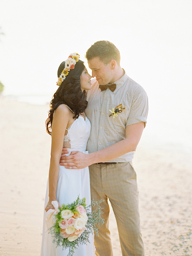
M 148 96 L 145 90 L 142 87 L 140 87 L 140 89 L 137 89 L 133 95 L 131 110 L 126 122 L 126 126 L 139 122 L 144 122 L 146 125 L 147 115 Z

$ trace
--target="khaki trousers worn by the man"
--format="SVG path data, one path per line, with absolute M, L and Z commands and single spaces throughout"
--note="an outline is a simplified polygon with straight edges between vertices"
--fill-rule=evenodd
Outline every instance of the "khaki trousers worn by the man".
M 92 164 L 89 166 L 91 197 L 95 201 L 103 199 L 102 218 L 105 224 L 95 235 L 97 256 L 113 256 L 108 229 L 109 205 L 111 202 L 119 232 L 123 256 L 144 256 L 144 245 L 140 232 L 138 188 L 132 162 L 117 164 Z

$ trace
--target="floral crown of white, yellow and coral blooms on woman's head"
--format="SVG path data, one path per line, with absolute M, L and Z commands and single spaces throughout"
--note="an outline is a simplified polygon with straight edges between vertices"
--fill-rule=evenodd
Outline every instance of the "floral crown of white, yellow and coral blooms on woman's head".
M 57 85 L 60 86 L 61 83 L 65 80 L 66 76 L 68 75 L 69 71 L 71 69 L 75 68 L 75 64 L 76 62 L 78 62 L 80 59 L 80 56 L 78 53 L 72 53 L 69 55 L 68 59 L 65 61 L 65 68 L 64 70 L 61 72 L 58 81 L 57 81 Z

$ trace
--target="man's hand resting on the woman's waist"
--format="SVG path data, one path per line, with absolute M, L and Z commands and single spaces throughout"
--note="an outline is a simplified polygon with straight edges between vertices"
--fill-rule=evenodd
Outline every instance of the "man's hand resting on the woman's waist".
M 68 151 L 66 148 L 63 148 L 60 165 L 65 166 L 67 169 L 83 169 L 89 165 L 88 163 L 88 154 L 84 154 L 79 151 L 72 151 L 70 155 L 66 156 Z

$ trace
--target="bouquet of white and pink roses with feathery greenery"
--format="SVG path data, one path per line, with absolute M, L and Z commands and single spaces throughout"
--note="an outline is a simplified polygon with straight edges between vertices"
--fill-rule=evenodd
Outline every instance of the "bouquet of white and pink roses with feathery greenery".
M 85 198 L 80 199 L 78 196 L 76 201 L 63 204 L 61 208 L 58 208 L 55 202 L 57 203 L 57 201 L 52 202 L 55 207 L 54 212 L 50 214 L 47 211 L 48 230 L 53 236 L 53 243 L 69 248 L 67 256 L 72 256 L 79 244 L 89 242 L 89 235 L 93 233 L 93 230 L 98 235 L 98 226 L 104 223 L 104 219 L 101 218 L 102 208 L 99 205 L 102 200 L 92 201 L 89 206 L 86 206 Z M 90 208 L 95 205 L 97 208 L 91 211 Z M 51 227 L 50 219 L 53 224 Z

